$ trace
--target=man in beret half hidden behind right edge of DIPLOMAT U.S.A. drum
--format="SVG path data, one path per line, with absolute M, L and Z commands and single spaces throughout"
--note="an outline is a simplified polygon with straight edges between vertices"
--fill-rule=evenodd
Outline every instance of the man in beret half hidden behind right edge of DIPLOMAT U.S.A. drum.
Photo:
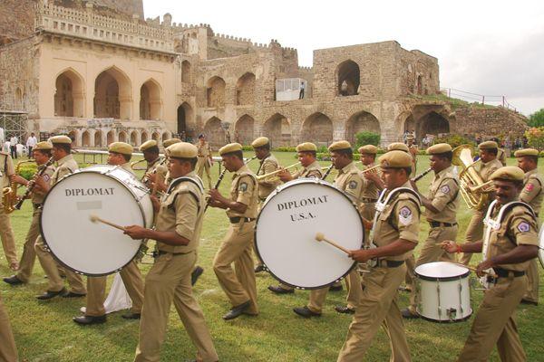
M 364 180 L 359 175 L 359 169 L 355 166 L 351 145 L 343 140 L 333 143 L 328 149 L 331 153 L 332 162 L 338 170 L 338 175 L 335 177 L 335 186 L 349 195 L 355 201 L 355 204 L 359 206 Z M 345 284 L 347 285 L 347 305 L 336 306 L 335 310 L 338 313 L 353 314 L 359 306 L 362 294 L 359 271 L 356 269 L 351 271 L 345 278 Z M 293 311 L 305 318 L 321 316 L 328 291 L 328 287 L 310 291 L 308 304 L 304 307 L 295 308 Z

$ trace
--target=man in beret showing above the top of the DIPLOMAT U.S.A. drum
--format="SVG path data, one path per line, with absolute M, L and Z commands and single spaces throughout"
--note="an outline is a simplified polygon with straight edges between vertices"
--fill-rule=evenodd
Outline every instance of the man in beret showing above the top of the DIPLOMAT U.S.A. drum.
M 298 154 L 298 161 L 303 168 L 296 171 L 294 175 L 291 175 L 288 170 L 284 170 L 283 172 L 279 173 L 279 179 L 283 182 L 289 182 L 297 178 L 321 179 L 321 177 L 323 176 L 323 172 L 321 172 L 321 165 L 319 165 L 319 162 L 317 162 L 316 160 L 316 145 L 311 142 L 301 143 L 300 145 L 296 146 L 296 152 Z M 280 283 L 277 286 L 269 285 L 268 290 L 273 291 L 277 294 L 287 294 L 295 292 L 295 289 L 293 287 L 290 287 L 283 283 Z

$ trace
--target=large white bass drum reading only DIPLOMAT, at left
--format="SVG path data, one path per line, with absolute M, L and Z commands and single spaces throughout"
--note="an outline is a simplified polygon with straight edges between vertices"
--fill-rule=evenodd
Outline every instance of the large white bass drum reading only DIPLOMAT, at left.
M 98 165 L 63 177 L 45 198 L 41 233 L 57 261 L 90 276 L 119 271 L 137 255 L 141 241 L 93 224 L 92 214 L 114 224 L 149 228 L 153 206 L 148 189 L 121 167 Z

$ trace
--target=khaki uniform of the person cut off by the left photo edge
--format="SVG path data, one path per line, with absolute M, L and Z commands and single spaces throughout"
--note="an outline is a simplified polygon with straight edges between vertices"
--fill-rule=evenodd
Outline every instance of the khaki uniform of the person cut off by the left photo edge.
M 0 186 L 4 188 L 9 185 L 8 176 L 15 175 L 14 162 L 11 156 L 5 152 L 0 152 Z M 17 252 L 15 248 L 15 235 L 12 230 L 9 214 L 5 214 L 4 200 L 0 196 L 0 239 L 4 249 L 5 259 L 8 264 L 17 262 Z

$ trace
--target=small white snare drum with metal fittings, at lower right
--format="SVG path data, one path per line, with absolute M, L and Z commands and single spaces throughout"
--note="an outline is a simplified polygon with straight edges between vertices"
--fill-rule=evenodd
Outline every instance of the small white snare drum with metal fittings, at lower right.
M 437 322 L 471 317 L 469 274 L 468 268 L 452 262 L 429 262 L 415 268 L 420 316 Z

